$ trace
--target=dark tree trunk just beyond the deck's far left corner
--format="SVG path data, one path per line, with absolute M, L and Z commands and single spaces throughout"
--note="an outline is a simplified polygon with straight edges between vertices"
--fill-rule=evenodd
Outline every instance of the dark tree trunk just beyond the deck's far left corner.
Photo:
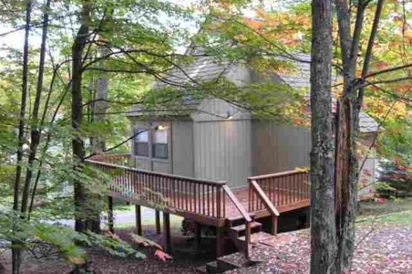
M 71 81 L 71 127 L 73 130 L 73 136 L 71 146 L 73 149 L 73 169 L 76 173 L 82 171 L 84 158 L 82 139 L 82 56 L 84 45 L 86 44 L 89 35 L 90 10 L 91 3 L 89 1 L 82 1 L 82 22 L 71 49 L 73 60 Z M 75 229 L 76 231 L 81 232 L 88 228 L 88 222 L 84 219 L 84 214 L 87 213 L 87 188 L 82 182 L 80 182 L 80 179 L 75 179 L 73 186 L 75 203 Z

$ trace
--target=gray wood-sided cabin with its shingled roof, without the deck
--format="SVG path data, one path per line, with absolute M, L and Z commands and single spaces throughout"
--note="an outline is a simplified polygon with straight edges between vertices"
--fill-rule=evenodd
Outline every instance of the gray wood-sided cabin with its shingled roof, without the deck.
M 310 56 L 299 54 L 299 59 L 309 61 Z M 273 81 L 309 89 L 309 63 L 296 62 L 296 66 L 295 74 L 273 73 Z M 168 80 L 187 82 L 187 77 L 203 81 L 225 77 L 237 86 L 260 79 L 247 65 L 219 64 L 209 57 L 195 58 Z M 135 135 L 130 147 L 138 169 L 223 180 L 234 189 L 246 186 L 247 177 L 309 166 L 310 129 L 263 121 L 223 99 L 187 98 L 179 109 L 155 113 L 145 112 L 138 105 L 133 110 L 128 116 L 130 134 Z M 361 112 L 360 125 L 365 138 L 372 138 L 378 130 L 376 121 L 365 112 Z M 365 169 L 373 171 L 374 161 L 369 158 Z M 366 179 L 374 180 L 374 175 L 368 174 Z

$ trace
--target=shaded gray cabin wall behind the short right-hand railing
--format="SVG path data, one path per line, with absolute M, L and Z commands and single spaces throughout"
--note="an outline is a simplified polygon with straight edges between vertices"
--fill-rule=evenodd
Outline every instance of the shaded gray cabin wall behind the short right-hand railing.
M 253 121 L 253 175 L 290 171 L 310 164 L 310 130 Z

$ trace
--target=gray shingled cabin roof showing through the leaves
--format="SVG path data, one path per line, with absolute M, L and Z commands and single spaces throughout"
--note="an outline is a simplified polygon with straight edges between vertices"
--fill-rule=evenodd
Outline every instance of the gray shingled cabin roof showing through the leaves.
M 196 52 L 198 54 L 199 52 Z M 310 55 L 306 53 L 295 53 L 296 58 L 292 61 L 295 64 L 293 73 L 277 73 L 279 78 L 288 84 L 291 88 L 308 88 L 310 89 Z M 219 77 L 226 77 L 232 66 L 231 62 L 218 62 L 211 56 L 198 54 L 194 56 L 191 64 L 186 66 L 179 66 L 166 75 L 163 81 L 155 84 L 155 88 L 162 88 L 166 86 L 196 86 L 196 82 L 210 82 Z M 332 75 L 332 82 L 336 82 L 336 75 Z M 306 93 L 305 98 L 310 99 L 310 92 Z M 197 110 L 198 105 L 202 100 L 194 99 L 191 95 L 183 96 L 183 105 L 168 106 L 162 110 L 156 110 L 156 116 L 182 116 L 190 115 Z M 336 110 L 336 98 L 332 99 L 332 111 Z M 145 114 L 146 111 L 145 111 Z M 132 112 L 128 116 L 141 115 L 141 108 L 138 105 L 133 106 Z M 359 117 L 359 125 L 361 132 L 376 132 L 379 130 L 378 123 L 371 118 L 367 113 L 361 110 Z

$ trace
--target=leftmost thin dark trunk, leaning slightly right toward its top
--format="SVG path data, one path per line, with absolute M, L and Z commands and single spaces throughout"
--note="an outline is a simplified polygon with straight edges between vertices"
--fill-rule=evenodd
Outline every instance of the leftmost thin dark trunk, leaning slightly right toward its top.
M 22 81 L 22 92 L 21 92 L 21 106 L 20 106 L 20 121 L 19 121 L 19 137 L 18 137 L 18 147 L 17 147 L 17 164 L 16 164 L 16 179 L 14 181 L 14 199 L 13 199 L 13 210 L 17 212 L 19 210 L 19 195 L 20 195 L 20 185 L 21 185 L 21 164 L 23 160 L 23 142 L 24 142 L 24 127 L 25 127 L 25 111 L 27 105 L 27 85 L 28 85 L 28 60 L 29 60 L 29 34 L 30 34 L 30 24 L 31 24 L 31 13 L 32 13 L 32 1 L 27 1 L 26 3 L 26 21 L 25 21 L 25 35 L 24 35 L 24 46 L 23 46 L 23 81 Z M 16 242 L 12 241 L 12 245 Z M 13 245 L 14 246 L 14 245 Z M 16 248 L 12 248 L 12 273 L 20 273 L 21 264 L 21 251 Z

